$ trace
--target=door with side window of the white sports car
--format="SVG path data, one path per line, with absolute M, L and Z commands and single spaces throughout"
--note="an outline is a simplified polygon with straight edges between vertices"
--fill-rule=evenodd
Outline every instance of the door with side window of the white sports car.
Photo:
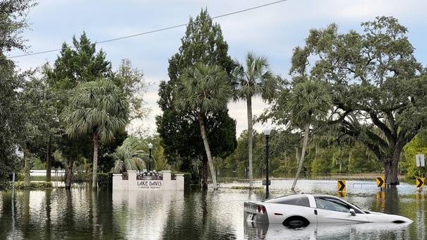
M 363 212 L 354 212 L 350 205 L 336 198 L 315 198 L 318 222 L 368 222 Z

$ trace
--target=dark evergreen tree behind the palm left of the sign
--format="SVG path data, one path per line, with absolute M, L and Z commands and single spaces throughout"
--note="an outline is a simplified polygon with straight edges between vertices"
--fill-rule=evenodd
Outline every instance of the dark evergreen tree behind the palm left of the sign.
M 127 65 L 127 67 L 130 66 Z M 53 64 L 52 71 L 48 71 L 47 79 L 50 88 L 56 95 L 56 112 L 59 115 L 65 116 L 64 109 L 71 109 L 72 106 L 68 106 L 69 97 L 71 92 L 76 93 L 76 88 L 79 84 L 85 83 L 93 84 L 100 78 L 109 81 L 115 85 L 116 88 L 124 90 L 125 82 L 121 82 L 122 76 L 115 77 L 112 71 L 112 64 L 107 60 L 106 54 L 101 50 L 97 51 L 96 44 L 90 42 L 88 36 L 83 32 L 80 38 L 77 39 L 73 36 L 73 44 L 70 46 L 64 42 L 62 44 L 61 52 Z M 133 84 L 133 80 L 128 82 L 128 85 Z M 71 92 L 70 92 L 71 91 Z M 81 92 L 83 94 L 83 92 Z M 88 97 L 88 96 L 85 96 Z M 122 96 L 124 97 L 124 95 Z M 129 96 L 126 96 L 129 97 Z M 82 98 L 83 100 L 83 98 Z M 108 102 L 108 98 L 104 102 Z M 127 111 L 127 110 L 126 110 Z M 81 123 L 81 122 L 80 122 Z M 68 122 L 67 124 L 75 124 Z M 80 127 L 80 126 L 79 126 Z M 65 133 L 65 129 L 62 128 Z M 68 131 L 68 133 L 73 133 Z M 88 146 L 92 146 L 93 135 L 92 130 L 88 131 L 88 134 L 77 134 L 78 138 L 61 138 L 60 144 L 58 144 L 58 150 L 61 151 L 61 155 L 68 162 L 68 172 L 66 177 L 66 187 L 71 186 L 71 178 L 73 174 L 73 162 L 83 159 L 94 159 L 94 155 L 88 149 Z M 64 136 L 67 136 L 64 134 Z M 110 134 L 111 136 L 111 134 Z M 67 136 L 68 137 L 68 136 Z M 114 152 L 117 145 L 121 145 L 121 142 L 127 137 L 126 131 L 121 131 L 120 135 L 115 135 L 112 142 L 108 144 L 100 144 L 100 162 L 102 163 L 102 169 L 109 171 L 114 165 L 112 158 L 105 157 L 107 153 Z M 104 142 L 105 143 L 105 142 Z M 74 146 L 71 148 L 71 146 Z M 77 147 L 78 146 L 78 147 Z M 93 149 L 93 148 L 92 148 Z M 109 164 L 107 164 L 109 162 Z M 96 162 L 94 162 L 95 164 Z M 105 169 L 104 169 L 105 167 Z M 93 177 L 93 176 L 92 176 Z

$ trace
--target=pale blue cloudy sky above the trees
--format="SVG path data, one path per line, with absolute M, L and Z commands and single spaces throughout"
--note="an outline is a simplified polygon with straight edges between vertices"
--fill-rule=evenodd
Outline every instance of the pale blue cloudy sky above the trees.
M 243 61 L 248 52 L 267 56 L 271 70 L 288 78 L 292 49 L 303 46 L 312 28 L 337 23 L 340 32 L 363 33 L 361 23 L 377 16 L 392 16 L 408 29 L 419 62 L 427 63 L 427 1 L 425 0 L 39 0 L 30 9 L 31 30 L 25 30 L 30 54 L 6 53 L 22 70 L 46 62 L 53 64 L 63 42 L 72 45 L 83 31 L 97 42 L 116 70 L 121 59 L 130 59 L 133 68 L 143 71 L 151 83 L 145 101 L 151 109 L 148 119 L 133 123 L 150 133 L 156 132 L 155 116 L 158 85 L 167 76 L 168 60 L 179 52 L 189 18 L 206 8 L 222 29 L 229 44 L 229 56 Z M 23 56 L 24 55 L 24 56 Z M 253 100 L 253 114 L 267 107 L 259 97 Z M 247 128 L 246 103 L 229 104 L 229 115 L 236 119 L 236 134 Z M 263 126 L 254 129 L 262 132 Z

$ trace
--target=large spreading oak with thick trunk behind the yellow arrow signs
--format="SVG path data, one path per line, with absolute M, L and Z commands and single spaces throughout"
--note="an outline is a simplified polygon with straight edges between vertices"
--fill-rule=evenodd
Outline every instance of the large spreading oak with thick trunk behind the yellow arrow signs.
M 382 162 L 386 184 L 397 185 L 402 148 L 426 126 L 427 78 L 396 18 L 361 26 L 363 34 L 341 33 L 336 24 L 311 30 L 294 49 L 290 73 L 330 85 L 330 124 L 364 143 Z

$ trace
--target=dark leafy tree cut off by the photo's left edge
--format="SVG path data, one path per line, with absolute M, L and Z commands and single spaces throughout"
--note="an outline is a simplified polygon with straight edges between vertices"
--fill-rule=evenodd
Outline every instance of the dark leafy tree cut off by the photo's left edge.
M 22 33 L 29 27 L 28 11 L 35 5 L 32 0 L 0 1 L 0 189 L 5 187 L 9 174 L 22 166 L 18 151 L 25 145 L 20 89 L 27 73 L 18 73 L 5 54 L 12 49 L 27 49 Z

